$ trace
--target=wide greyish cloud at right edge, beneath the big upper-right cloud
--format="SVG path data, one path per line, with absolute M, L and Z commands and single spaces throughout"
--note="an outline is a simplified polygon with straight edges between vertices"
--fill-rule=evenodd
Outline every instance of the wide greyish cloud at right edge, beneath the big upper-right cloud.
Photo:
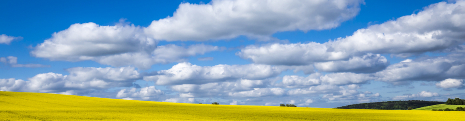
M 379 81 L 441 81 L 447 78 L 463 78 L 465 61 L 463 55 L 418 59 L 395 63 L 386 70 L 375 73 Z

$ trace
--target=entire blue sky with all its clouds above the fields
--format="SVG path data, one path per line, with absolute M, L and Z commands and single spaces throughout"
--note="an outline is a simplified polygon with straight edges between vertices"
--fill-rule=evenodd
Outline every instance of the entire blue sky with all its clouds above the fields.
M 2 0 L 0 91 L 333 108 L 465 98 L 465 0 Z

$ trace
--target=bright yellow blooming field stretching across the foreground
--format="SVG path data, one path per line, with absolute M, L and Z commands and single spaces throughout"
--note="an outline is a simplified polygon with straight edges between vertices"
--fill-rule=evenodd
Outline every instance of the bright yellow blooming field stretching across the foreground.
M 465 112 L 229 106 L 0 91 L 0 121 L 458 121 Z

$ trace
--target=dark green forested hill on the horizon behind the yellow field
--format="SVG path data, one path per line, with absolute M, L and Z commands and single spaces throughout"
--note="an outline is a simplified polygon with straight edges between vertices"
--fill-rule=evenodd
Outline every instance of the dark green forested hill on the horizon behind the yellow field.
M 415 109 L 419 107 L 433 106 L 433 105 L 445 104 L 445 103 L 446 102 L 438 102 L 438 101 L 408 100 L 408 101 L 387 101 L 387 102 L 353 104 L 353 105 L 341 106 L 341 107 L 336 107 L 336 108 L 406 110 L 408 109 L 408 107 L 412 107 L 413 109 Z

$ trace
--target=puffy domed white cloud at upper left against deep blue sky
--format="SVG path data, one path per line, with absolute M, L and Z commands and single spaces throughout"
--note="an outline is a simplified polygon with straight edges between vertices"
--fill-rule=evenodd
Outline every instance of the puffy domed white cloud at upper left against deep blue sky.
M 73 24 L 53 33 L 51 38 L 35 46 L 31 54 L 50 60 L 82 61 L 130 52 L 150 53 L 156 48 L 155 40 L 141 33 L 141 28 L 134 25 Z

